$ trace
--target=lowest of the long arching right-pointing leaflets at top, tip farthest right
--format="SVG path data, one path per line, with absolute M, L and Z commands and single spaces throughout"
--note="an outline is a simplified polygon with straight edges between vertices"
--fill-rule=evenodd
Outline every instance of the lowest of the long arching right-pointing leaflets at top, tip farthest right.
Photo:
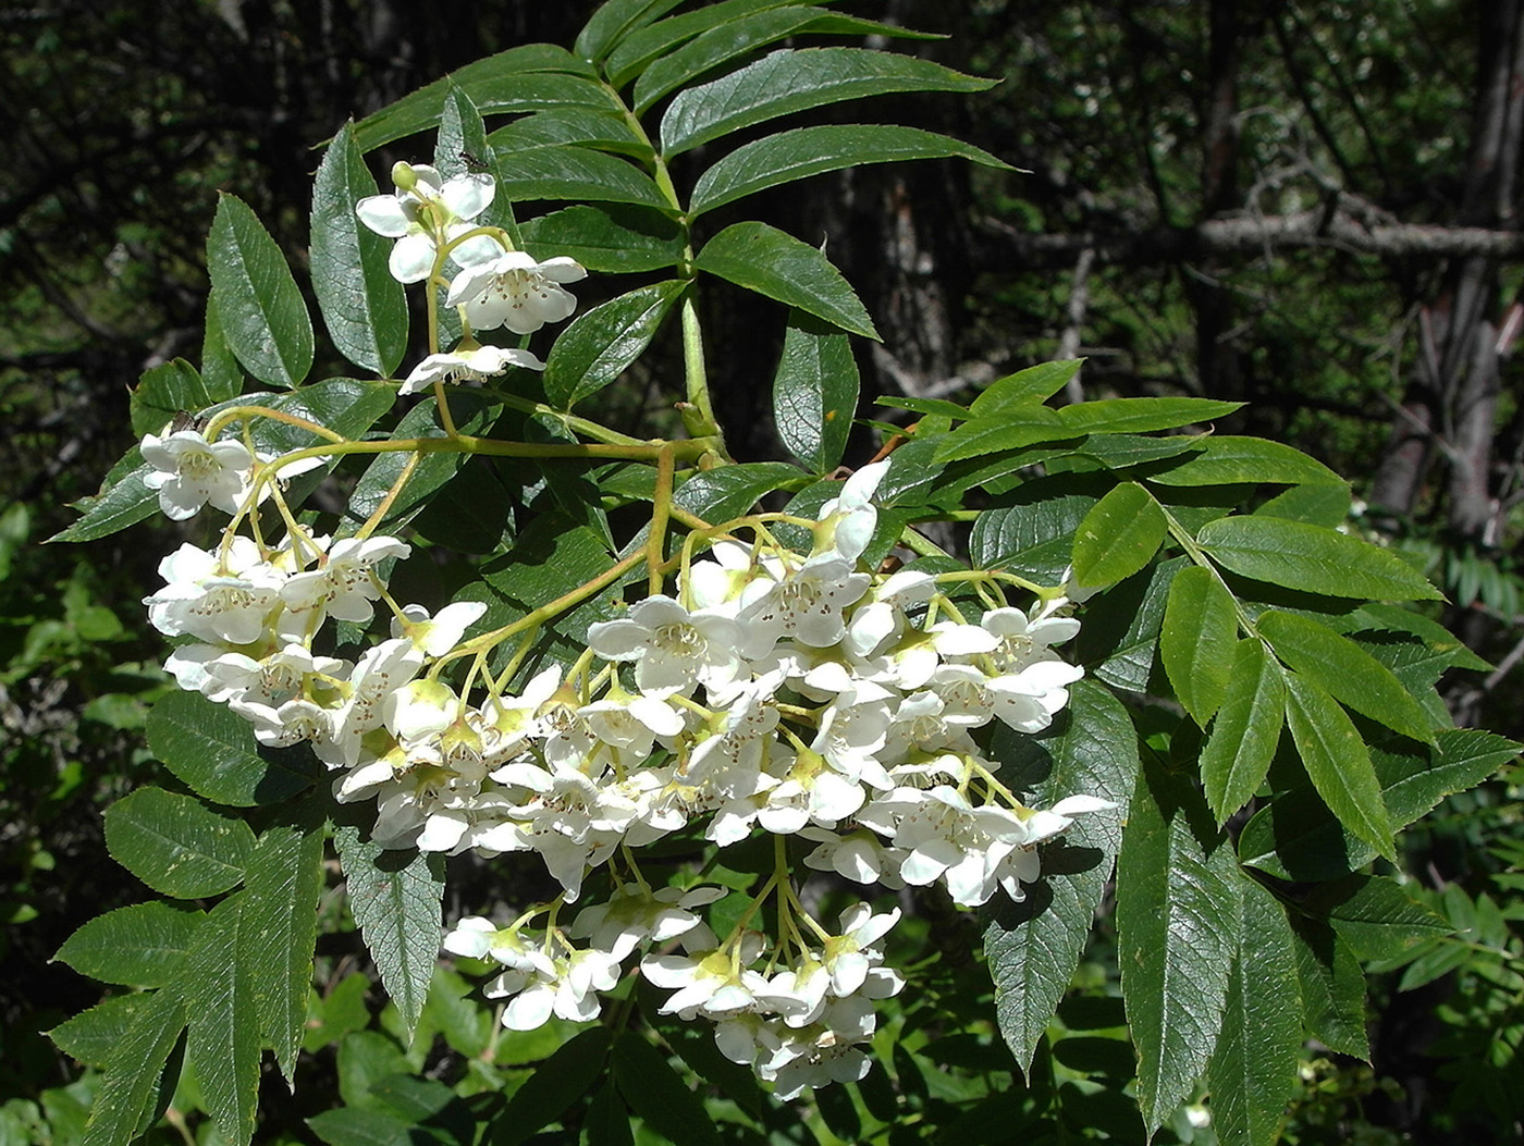
M 1007 163 L 971 143 L 917 128 L 888 123 L 829 123 L 796 128 L 736 148 L 698 177 L 689 218 L 768 187 L 794 183 L 826 171 L 866 163 L 917 158 L 966 158 L 988 168 Z

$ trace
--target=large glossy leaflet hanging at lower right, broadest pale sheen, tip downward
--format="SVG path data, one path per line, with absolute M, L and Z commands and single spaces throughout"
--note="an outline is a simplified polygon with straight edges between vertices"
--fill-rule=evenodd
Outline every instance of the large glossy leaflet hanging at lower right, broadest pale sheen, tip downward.
M 1212 1056 L 1244 908 L 1233 846 L 1196 786 L 1161 767 L 1143 777 L 1117 858 L 1117 951 L 1152 1134 Z

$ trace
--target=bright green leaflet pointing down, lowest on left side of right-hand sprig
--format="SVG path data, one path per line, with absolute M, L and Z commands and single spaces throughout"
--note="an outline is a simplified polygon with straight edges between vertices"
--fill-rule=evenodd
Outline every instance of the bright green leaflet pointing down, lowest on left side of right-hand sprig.
M 1242 640 L 1222 707 L 1201 753 L 1201 782 L 1218 823 L 1250 802 L 1269 771 L 1285 722 L 1286 675 L 1259 640 Z

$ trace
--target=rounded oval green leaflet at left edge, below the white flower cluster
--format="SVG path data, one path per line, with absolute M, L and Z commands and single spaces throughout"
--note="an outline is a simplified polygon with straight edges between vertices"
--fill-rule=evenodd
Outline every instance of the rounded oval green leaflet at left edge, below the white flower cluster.
M 160 895 L 201 899 L 235 887 L 255 850 L 242 820 L 200 800 L 139 788 L 105 812 L 111 856 Z

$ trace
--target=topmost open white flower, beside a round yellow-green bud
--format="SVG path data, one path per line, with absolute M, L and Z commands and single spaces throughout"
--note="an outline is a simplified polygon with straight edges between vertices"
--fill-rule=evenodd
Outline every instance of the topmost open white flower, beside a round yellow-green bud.
M 398 282 L 422 282 L 434 268 L 440 233 L 445 241 L 471 230 L 466 219 L 486 210 L 497 184 L 491 175 L 466 174 L 445 181 L 427 165 L 398 163 L 392 169 L 398 189 L 393 195 L 369 195 L 355 204 L 360 221 L 378 235 L 396 239 L 390 270 Z M 466 239 L 451 254 L 460 265 L 482 262 L 501 250 L 497 239 L 483 235 Z

